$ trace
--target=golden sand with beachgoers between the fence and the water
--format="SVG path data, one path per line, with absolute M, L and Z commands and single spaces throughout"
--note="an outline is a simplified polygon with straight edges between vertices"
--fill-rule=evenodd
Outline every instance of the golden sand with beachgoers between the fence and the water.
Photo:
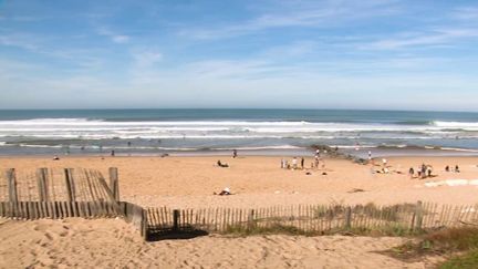
M 228 163 L 228 168 L 216 162 Z M 290 161 L 291 158 L 289 158 Z M 142 206 L 178 208 L 239 207 L 295 204 L 365 204 L 435 201 L 453 205 L 478 203 L 478 186 L 436 186 L 426 183 L 478 179 L 478 157 L 394 157 L 387 159 L 389 174 L 372 174 L 377 165 L 324 158 L 324 168 L 281 169 L 281 157 L 14 157 L 1 158 L 0 168 L 31 173 L 38 167 L 94 168 L 107 176 L 108 167 L 119 170 L 121 199 Z M 305 158 L 306 167 L 313 158 Z M 299 162 L 300 163 L 300 162 Z M 434 177 L 411 179 L 408 168 L 423 163 L 433 166 Z M 458 165 L 460 173 L 445 172 Z M 310 173 L 310 175 L 308 175 Z M 229 187 L 232 196 L 215 196 Z M 360 189 L 363 192 L 354 192 Z

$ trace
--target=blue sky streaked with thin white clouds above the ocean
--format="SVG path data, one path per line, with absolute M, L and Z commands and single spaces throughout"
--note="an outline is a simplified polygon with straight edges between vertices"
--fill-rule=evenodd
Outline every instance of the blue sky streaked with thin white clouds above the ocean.
M 478 1 L 0 0 L 0 108 L 478 111 Z

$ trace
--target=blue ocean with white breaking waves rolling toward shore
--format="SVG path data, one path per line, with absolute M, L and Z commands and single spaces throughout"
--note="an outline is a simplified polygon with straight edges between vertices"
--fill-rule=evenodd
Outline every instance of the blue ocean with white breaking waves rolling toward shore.
M 478 113 L 358 110 L 0 111 L 0 155 L 478 155 Z

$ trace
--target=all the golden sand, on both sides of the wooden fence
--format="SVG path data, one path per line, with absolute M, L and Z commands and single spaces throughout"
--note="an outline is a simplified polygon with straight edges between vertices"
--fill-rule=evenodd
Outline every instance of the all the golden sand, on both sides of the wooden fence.
M 218 158 L 229 167 L 218 167 Z M 478 179 L 478 157 L 394 157 L 389 174 L 378 165 L 325 158 L 320 169 L 281 169 L 281 157 L 11 157 L 0 168 L 14 167 L 19 177 L 38 167 L 85 167 L 119 170 L 122 200 L 175 208 L 261 207 L 295 204 L 415 203 L 471 205 L 478 186 L 436 186 L 454 179 Z M 306 158 L 310 167 L 312 158 Z M 434 177 L 409 178 L 411 166 L 434 167 Z M 300 164 L 300 162 L 299 162 Z M 460 173 L 445 172 L 459 165 Z M 310 175 L 308 175 L 308 173 Z M 217 196 L 229 187 L 233 195 Z M 361 189 L 363 192 L 353 192 Z M 0 268 L 432 268 L 436 260 L 404 262 L 380 251 L 406 238 L 209 235 L 188 240 L 144 242 L 121 219 L 64 219 L 0 225 Z

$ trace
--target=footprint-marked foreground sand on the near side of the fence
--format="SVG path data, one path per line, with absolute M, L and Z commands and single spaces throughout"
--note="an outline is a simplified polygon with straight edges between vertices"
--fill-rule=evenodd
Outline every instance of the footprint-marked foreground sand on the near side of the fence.
M 206 236 L 144 242 L 121 219 L 7 220 L 0 268 L 425 268 L 377 251 L 402 238 Z

